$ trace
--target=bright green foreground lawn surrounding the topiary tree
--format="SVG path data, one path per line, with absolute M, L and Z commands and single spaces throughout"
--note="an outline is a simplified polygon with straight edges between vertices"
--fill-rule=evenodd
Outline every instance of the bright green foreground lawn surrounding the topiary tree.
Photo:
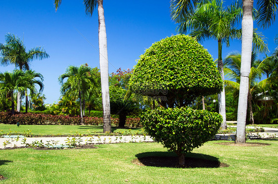
M 161 168 L 138 166 L 142 155 L 174 155 L 158 143 L 101 144 L 97 149 L 0 150 L 0 175 L 5 184 L 184 184 L 278 182 L 278 139 L 252 140 L 269 146 L 241 147 L 209 141 L 189 155 L 218 159 L 226 168 Z M 223 141 L 221 141 L 223 142 Z M 125 182 L 126 181 L 126 182 Z

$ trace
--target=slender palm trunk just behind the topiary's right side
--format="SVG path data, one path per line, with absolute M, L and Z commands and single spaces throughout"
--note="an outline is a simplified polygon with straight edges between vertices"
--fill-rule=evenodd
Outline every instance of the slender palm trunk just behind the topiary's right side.
M 227 128 L 226 123 L 226 102 L 225 102 L 225 87 L 224 87 L 224 69 L 222 61 L 222 40 L 218 40 L 218 70 L 223 81 L 223 90 L 218 94 L 218 105 L 219 105 L 219 114 L 223 117 L 223 122 L 221 124 L 221 129 L 225 130 Z

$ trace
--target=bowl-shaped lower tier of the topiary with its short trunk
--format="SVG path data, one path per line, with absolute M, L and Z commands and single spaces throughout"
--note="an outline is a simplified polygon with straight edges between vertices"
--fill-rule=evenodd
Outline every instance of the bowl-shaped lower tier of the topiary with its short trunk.
M 215 136 L 221 122 L 222 116 L 216 112 L 189 107 L 159 107 L 141 115 L 145 132 L 155 141 L 161 142 L 168 151 L 175 151 L 180 165 L 185 164 L 185 153 Z

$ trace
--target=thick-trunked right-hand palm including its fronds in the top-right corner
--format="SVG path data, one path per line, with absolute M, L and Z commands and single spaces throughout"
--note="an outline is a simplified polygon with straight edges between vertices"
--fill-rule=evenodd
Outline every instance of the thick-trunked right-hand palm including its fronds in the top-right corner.
M 260 27 L 267 28 L 275 21 L 278 0 L 258 0 L 258 20 Z M 241 22 L 241 64 L 240 88 L 237 111 L 236 143 L 245 143 L 246 109 L 248 99 L 248 76 L 251 68 L 252 32 L 253 32 L 253 0 L 243 0 L 243 17 Z

